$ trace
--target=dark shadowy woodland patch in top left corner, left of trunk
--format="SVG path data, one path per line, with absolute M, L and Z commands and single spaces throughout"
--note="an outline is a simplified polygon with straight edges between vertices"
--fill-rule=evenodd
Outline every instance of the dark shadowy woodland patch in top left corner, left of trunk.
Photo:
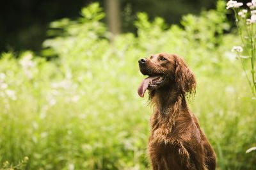
M 49 22 L 75 18 L 90 0 L 3 1 L 0 10 L 0 52 L 33 49 L 39 51 Z

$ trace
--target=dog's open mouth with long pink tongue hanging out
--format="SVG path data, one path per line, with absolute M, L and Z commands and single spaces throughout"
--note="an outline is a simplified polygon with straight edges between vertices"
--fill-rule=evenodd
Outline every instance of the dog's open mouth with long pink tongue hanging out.
M 156 76 L 152 76 L 152 77 L 147 77 L 146 79 L 144 79 L 139 88 L 138 88 L 138 95 L 140 97 L 144 97 L 144 93 L 145 91 L 150 87 L 150 88 L 154 88 L 159 86 L 159 84 L 161 84 L 164 81 L 164 77 L 161 75 L 156 75 Z

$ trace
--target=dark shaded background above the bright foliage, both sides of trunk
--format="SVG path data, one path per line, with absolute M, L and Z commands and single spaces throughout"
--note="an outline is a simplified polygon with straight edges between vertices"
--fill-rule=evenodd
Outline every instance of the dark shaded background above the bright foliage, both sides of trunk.
M 0 52 L 7 50 L 35 50 L 46 38 L 49 22 L 63 17 L 76 19 L 83 6 L 93 0 L 9 0 L 2 1 L 0 10 Z M 106 1 L 99 1 L 106 10 Z M 134 32 L 137 12 L 148 13 L 150 19 L 159 16 L 167 24 L 179 23 L 186 13 L 199 13 L 215 8 L 214 0 L 121 0 L 122 32 Z

